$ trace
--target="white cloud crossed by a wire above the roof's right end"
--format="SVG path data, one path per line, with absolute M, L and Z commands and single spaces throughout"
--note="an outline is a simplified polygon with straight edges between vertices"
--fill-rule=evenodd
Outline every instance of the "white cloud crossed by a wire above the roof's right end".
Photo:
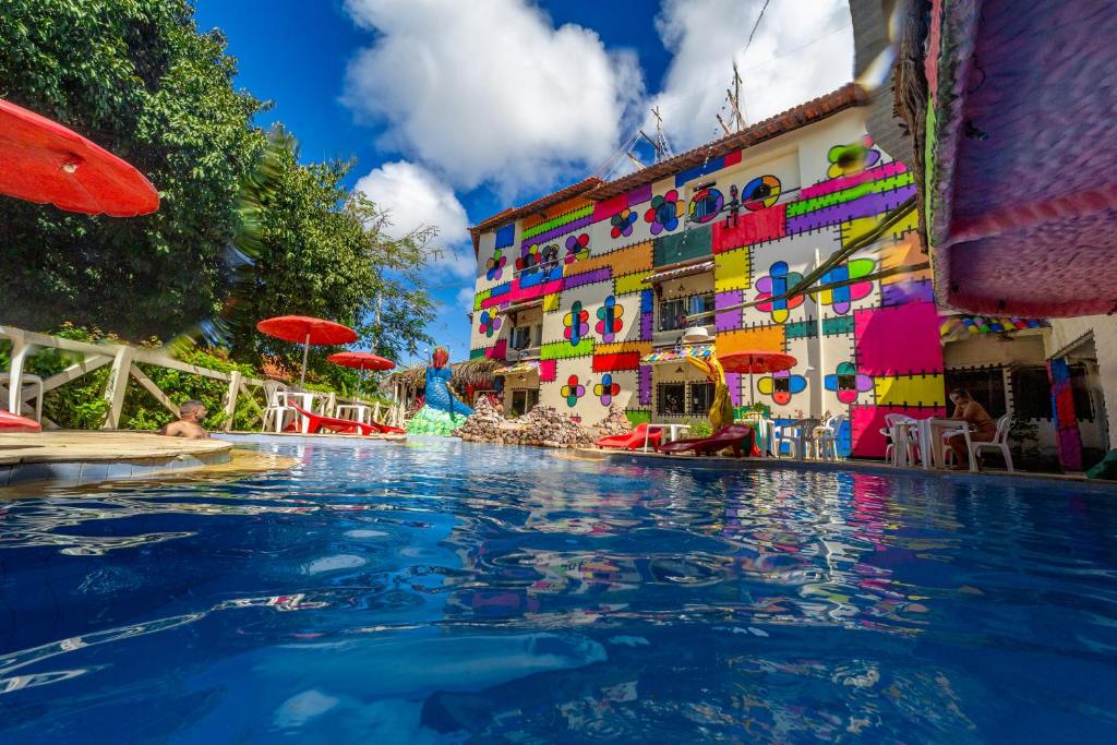
M 657 28 L 675 57 L 656 96 L 676 151 L 724 134 L 725 90 L 736 60 L 750 123 L 841 87 L 853 75 L 847 0 L 771 2 L 748 52 L 763 0 L 663 0 Z M 777 58 L 777 59 L 773 59 Z M 726 106 L 723 109 L 723 105 Z

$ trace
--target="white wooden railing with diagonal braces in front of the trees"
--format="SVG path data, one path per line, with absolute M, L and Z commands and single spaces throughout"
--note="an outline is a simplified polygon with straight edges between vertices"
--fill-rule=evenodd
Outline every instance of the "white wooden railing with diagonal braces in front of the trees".
M 70 381 L 77 380 L 94 370 L 112 365 L 103 393 L 104 400 L 108 404 L 108 411 L 102 429 L 120 428 L 121 412 L 124 409 L 124 395 L 127 392 L 130 381 L 139 383 L 141 388 L 151 393 L 168 411 L 178 416 L 178 404 L 160 390 L 159 385 L 137 366 L 137 363 L 165 367 L 168 370 L 178 370 L 179 372 L 201 375 L 202 378 L 228 383 L 228 390 L 222 400 L 222 408 L 226 414 L 226 431 L 232 429 L 233 416 L 236 414 L 237 403 L 241 395 L 245 397 L 244 400 L 248 401 L 250 408 L 255 409 L 249 423 L 255 424 L 260 422 L 262 424 L 264 421 L 264 407 L 267 405 L 267 402 L 265 401 L 265 404 L 260 405 L 254 395 L 256 390 L 262 391 L 264 381 L 256 378 L 246 378 L 237 370 L 220 372 L 174 360 L 155 350 L 146 350 L 128 344 L 92 344 L 89 342 L 78 342 L 71 338 L 61 338 L 59 336 L 50 336 L 49 334 L 25 331 L 15 326 L 0 325 L 0 338 L 7 338 L 11 342 L 11 366 L 8 370 L 7 390 L 0 385 L 0 395 L 3 397 L 0 399 L 0 408 L 6 408 L 8 411 L 19 412 L 23 409 L 25 403 L 34 401 L 40 395 L 38 385 L 23 385 L 23 380 L 27 375 L 27 361 L 32 352 L 35 350 L 47 348 L 79 354 L 82 359 L 61 372 L 44 380 L 41 390 L 44 394 Z M 325 411 L 327 414 L 332 413 L 338 404 L 344 403 L 370 407 L 374 421 L 380 421 L 380 418 L 384 417 L 388 421 L 382 423 L 393 424 L 392 420 L 395 419 L 393 416 L 395 413 L 394 407 L 382 407 L 379 402 L 369 402 L 362 399 L 341 398 L 336 393 L 326 394 Z M 49 420 L 44 420 L 44 423 L 54 426 L 54 422 Z

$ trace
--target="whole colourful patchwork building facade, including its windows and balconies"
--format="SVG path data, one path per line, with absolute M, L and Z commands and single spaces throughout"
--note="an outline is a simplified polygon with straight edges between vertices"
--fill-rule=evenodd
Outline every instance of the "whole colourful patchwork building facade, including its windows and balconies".
M 727 376 L 734 403 L 764 403 L 777 420 L 843 413 L 847 452 L 880 457 L 886 414 L 947 413 L 944 346 L 955 371 L 992 357 L 1011 381 L 1012 360 L 989 347 L 994 335 L 951 335 L 974 329 L 936 308 L 927 270 L 905 269 L 926 260 L 915 212 L 823 275 L 829 289 L 780 298 L 915 194 L 904 164 L 866 135 L 859 95 L 849 86 L 475 227 L 471 353 L 507 362 L 506 411 L 544 402 L 592 424 L 619 403 L 637 422 L 697 420 L 713 385 L 682 357 L 783 352 L 798 361 L 790 371 Z M 696 326 L 708 341 L 687 333 Z M 1035 335 L 1028 353 L 1046 363 L 1048 324 L 1004 331 L 997 338 L 1023 345 Z

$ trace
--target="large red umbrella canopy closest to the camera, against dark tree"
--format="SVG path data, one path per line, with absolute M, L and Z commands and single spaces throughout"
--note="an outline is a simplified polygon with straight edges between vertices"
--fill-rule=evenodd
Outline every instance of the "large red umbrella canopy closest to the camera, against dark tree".
M 114 218 L 159 209 L 135 168 L 73 130 L 0 99 L 0 193 Z

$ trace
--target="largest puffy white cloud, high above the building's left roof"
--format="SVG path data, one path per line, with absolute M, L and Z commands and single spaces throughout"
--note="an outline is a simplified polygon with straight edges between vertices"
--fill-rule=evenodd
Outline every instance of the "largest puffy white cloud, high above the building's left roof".
M 345 4 L 378 32 L 350 63 L 346 104 L 384 124 L 382 145 L 456 187 L 510 197 L 580 178 L 613 152 L 643 93 L 634 55 L 554 28 L 528 0 Z

